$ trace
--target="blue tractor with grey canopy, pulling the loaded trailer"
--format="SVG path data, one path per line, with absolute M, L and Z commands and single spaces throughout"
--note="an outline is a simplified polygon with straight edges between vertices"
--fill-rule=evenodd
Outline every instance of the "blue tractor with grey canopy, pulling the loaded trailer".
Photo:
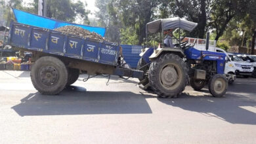
M 198 50 L 188 41 L 181 39 L 181 33 L 192 31 L 198 24 L 181 18 L 166 18 L 146 24 L 146 41 L 150 37 L 160 38 L 158 48 L 143 48 L 137 69 L 144 71 L 139 79 L 142 88 L 151 88 L 162 98 L 173 98 L 181 94 L 190 83 L 194 90 L 201 90 L 208 84 L 209 92 L 215 97 L 226 94 L 228 82 L 224 75 L 225 54 L 210 52 L 209 33 L 206 50 Z M 177 44 L 172 47 L 163 43 L 164 31 L 176 31 Z M 153 35 L 153 36 L 152 36 Z M 147 46 L 148 47 L 148 46 Z

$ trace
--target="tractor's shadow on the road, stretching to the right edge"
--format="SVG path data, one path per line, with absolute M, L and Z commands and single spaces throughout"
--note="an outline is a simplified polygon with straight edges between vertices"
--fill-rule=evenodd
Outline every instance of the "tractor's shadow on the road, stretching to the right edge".
M 194 111 L 230 122 L 232 124 L 256 124 L 256 100 L 234 94 L 226 94 L 224 98 L 207 96 L 191 96 L 183 93 L 177 99 L 158 98 L 159 101 L 186 111 Z M 254 111 L 248 111 L 252 109 Z

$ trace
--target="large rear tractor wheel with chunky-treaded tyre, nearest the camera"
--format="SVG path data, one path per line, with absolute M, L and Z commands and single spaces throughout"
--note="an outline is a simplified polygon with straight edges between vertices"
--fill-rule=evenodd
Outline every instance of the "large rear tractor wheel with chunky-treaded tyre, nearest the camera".
M 150 86 L 162 98 L 180 94 L 188 82 L 186 63 L 175 54 L 163 54 L 151 63 Z

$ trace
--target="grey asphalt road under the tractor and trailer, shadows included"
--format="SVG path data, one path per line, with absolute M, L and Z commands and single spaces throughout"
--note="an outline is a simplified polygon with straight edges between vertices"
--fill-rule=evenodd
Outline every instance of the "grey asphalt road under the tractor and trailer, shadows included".
M 0 143 L 256 143 L 256 79 L 224 98 L 186 87 L 157 98 L 137 79 L 96 77 L 57 96 L 39 94 L 29 72 L 0 71 Z

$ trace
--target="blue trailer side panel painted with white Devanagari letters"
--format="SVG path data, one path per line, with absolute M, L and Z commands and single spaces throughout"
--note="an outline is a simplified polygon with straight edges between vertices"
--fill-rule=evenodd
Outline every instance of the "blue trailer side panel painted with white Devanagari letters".
M 117 65 L 119 46 L 59 31 L 11 22 L 9 45 L 78 60 Z

